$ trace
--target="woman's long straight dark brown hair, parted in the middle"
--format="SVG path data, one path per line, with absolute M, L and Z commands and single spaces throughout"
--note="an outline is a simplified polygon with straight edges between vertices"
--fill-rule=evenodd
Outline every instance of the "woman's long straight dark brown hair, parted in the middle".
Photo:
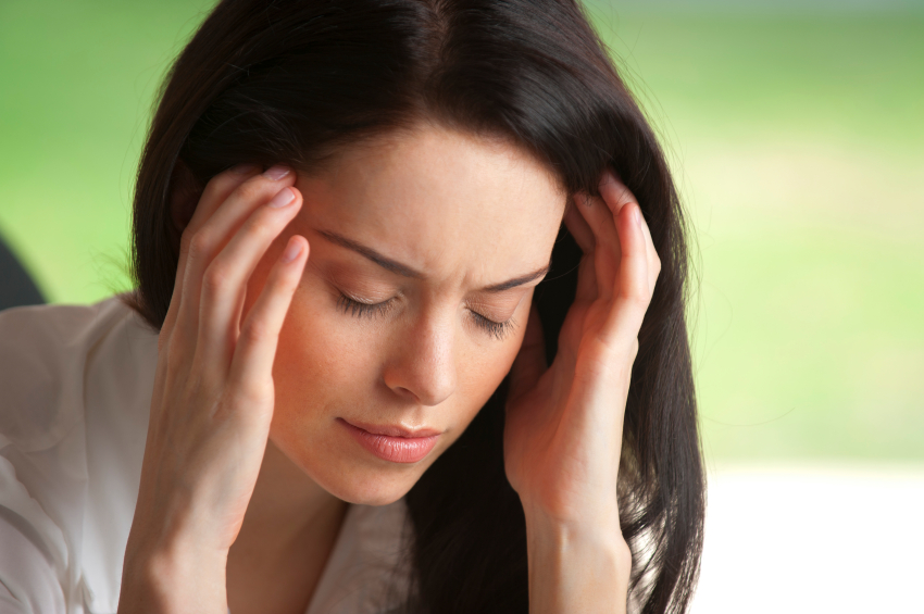
M 135 191 L 133 306 L 163 325 L 180 184 L 201 189 L 241 162 L 311 171 L 420 121 L 507 139 L 569 192 L 597 193 L 609 167 L 638 197 L 662 270 L 625 410 L 620 514 L 640 611 L 686 611 L 704 516 L 686 226 L 658 140 L 575 0 L 218 3 L 168 73 L 150 126 Z M 562 228 L 535 295 L 550 362 L 580 255 Z M 525 519 L 503 468 L 504 400 L 502 384 L 407 496 L 409 611 L 528 611 Z

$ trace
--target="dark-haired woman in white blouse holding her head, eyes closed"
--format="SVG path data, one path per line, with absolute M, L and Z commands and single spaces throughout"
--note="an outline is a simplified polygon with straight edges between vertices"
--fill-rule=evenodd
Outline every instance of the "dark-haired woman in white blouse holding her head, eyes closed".
M 220 3 L 134 267 L 0 321 L 12 611 L 686 610 L 683 218 L 573 1 Z

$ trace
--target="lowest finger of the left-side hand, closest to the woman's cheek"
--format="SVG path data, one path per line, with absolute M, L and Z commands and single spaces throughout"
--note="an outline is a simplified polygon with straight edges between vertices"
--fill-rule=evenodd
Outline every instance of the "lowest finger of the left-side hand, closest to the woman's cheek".
M 304 237 L 290 237 L 273 265 L 266 285 L 247 314 L 232 359 L 230 379 L 245 398 L 261 398 L 272 385 L 279 331 L 308 261 Z

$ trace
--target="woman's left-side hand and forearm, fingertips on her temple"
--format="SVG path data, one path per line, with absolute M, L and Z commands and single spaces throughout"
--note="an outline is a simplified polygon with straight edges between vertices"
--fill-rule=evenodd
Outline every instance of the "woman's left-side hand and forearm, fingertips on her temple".
M 248 281 L 301 209 L 296 173 L 239 166 L 183 233 L 118 612 L 227 612 L 225 565 L 273 417 L 273 362 L 308 241 L 292 236 L 244 313 Z

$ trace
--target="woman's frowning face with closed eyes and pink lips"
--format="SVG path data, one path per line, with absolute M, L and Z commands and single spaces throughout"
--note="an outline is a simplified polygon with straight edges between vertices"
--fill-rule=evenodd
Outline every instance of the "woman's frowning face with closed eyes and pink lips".
M 248 288 L 249 308 L 288 237 L 308 239 L 270 437 L 335 497 L 390 503 L 510 369 L 566 195 L 512 146 L 436 127 L 351 149 L 296 187 L 302 210 Z M 434 436 L 376 436 L 401 430 Z

